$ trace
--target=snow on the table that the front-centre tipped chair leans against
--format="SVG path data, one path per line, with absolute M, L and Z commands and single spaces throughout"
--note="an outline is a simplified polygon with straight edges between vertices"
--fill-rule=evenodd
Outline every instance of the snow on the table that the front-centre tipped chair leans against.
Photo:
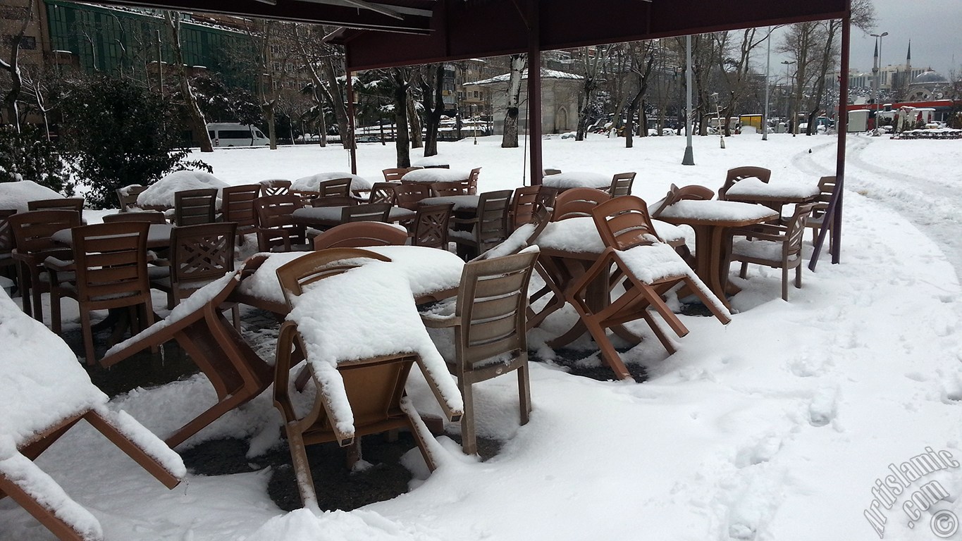
M 446 250 L 426 246 L 371 246 L 362 248 L 391 258 L 391 272 L 404 276 L 414 298 L 427 297 L 461 283 L 465 262 Z M 277 269 L 305 252 L 263 254 L 266 261 L 238 286 L 238 292 L 272 303 L 284 304 L 284 291 L 277 280 Z M 370 262 L 374 262 L 373 259 Z

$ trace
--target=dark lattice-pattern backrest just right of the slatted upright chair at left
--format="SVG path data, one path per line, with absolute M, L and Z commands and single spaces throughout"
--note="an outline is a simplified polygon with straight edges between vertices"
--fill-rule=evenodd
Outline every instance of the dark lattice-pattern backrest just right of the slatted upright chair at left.
M 235 222 L 170 230 L 170 283 L 207 283 L 234 270 Z

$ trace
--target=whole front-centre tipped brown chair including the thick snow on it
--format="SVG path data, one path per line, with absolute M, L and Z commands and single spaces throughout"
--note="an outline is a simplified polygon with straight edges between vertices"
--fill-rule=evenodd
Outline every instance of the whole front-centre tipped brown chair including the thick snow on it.
M 352 446 L 352 464 L 360 458 L 361 436 L 408 429 L 428 468 L 435 469 L 432 447 L 440 447 L 404 392 L 415 363 L 445 416 L 452 422 L 462 416 L 458 387 L 421 324 L 407 279 L 390 261 L 367 250 L 336 248 L 277 269 L 291 313 L 277 338 L 274 405 L 284 417 L 301 501 L 315 510 L 306 445 Z M 358 298 L 359 290 L 365 299 Z M 371 332 L 371 324 L 379 326 L 377 332 Z M 292 354 L 303 355 L 314 381 L 314 402 L 306 412 L 297 411 L 291 400 Z

